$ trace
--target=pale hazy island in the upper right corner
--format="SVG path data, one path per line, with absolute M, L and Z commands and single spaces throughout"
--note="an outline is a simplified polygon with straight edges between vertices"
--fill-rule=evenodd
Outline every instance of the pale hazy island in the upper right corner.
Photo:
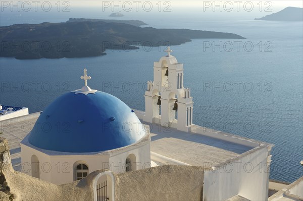
M 287 7 L 282 11 L 255 20 L 269 21 L 303 21 L 303 8 Z

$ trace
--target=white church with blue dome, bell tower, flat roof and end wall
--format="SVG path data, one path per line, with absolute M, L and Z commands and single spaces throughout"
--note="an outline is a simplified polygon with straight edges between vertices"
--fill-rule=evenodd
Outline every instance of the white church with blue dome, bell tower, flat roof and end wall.
M 94 193 L 98 186 L 107 186 L 106 193 L 114 200 L 119 189 L 113 187 L 118 181 L 112 172 L 164 163 L 202 166 L 201 199 L 266 200 L 273 145 L 194 125 L 190 89 L 183 87 L 183 64 L 170 48 L 166 51 L 168 55 L 154 63 L 154 81 L 148 82 L 144 95 L 145 111 L 134 111 L 112 95 L 91 90 L 84 70 L 84 87 L 58 97 L 38 119 L 33 117 L 35 126 L 21 142 L 22 171 L 63 184 L 108 169 L 94 181 Z M 149 122 L 149 128 L 141 121 Z M 170 132 L 159 130 L 159 124 Z M 95 199 L 100 196 L 94 194 Z

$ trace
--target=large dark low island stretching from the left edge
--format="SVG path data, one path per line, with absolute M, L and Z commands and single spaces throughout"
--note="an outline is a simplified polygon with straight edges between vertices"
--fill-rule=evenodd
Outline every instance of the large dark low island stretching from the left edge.
M 234 33 L 156 29 L 125 23 L 76 20 L 0 27 L 0 56 L 17 59 L 90 57 L 107 49 L 180 45 L 197 38 L 245 39 Z

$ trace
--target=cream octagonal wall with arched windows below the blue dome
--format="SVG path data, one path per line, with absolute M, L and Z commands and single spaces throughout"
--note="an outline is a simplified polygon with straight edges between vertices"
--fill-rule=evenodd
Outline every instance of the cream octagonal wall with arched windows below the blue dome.
M 36 155 L 39 160 L 39 178 L 55 184 L 74 181 L 74 169 L 79 163 L 84 163 L 88 166 L 88 173 L 101 169 L 109 169 L 115 173 L 121 173 L 125 172 L 126 158 L 133 154 L 137 163 L 132 164 L 132 170 L 150 167 L 150 141 L 104 153 L 71 153 L 70 155 L 68 155 L 69 153 L 33 149 L 27 146 L 28 136 L 23 143 L 25 144 L 21 143 L 21 171 L 32 176 L 31 168 L 34 167 L 31 167 L 31 157 Z

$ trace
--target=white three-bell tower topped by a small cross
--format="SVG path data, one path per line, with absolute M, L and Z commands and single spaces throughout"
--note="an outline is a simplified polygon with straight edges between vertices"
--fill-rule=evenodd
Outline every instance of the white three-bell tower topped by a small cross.
M 190 89 L 183 87 L 183 64 L 170 54 L 170 47 L 165 51 L 168 54 L 154 62 L 154 82 L 148 81 L 143 120 L 188 132 L 193 102 Z

